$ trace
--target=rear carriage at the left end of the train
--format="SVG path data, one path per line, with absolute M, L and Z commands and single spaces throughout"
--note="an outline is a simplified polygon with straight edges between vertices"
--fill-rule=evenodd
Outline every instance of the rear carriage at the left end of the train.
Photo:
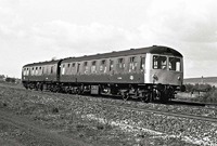
M 25 65 L 22 71 L 24 87 L 37 90 L 58 90 L 60 63 L 61 59 Z

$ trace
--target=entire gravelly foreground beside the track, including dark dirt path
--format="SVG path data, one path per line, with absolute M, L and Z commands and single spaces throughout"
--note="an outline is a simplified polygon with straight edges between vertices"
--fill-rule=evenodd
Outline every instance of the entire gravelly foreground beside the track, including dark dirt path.
M 53 142 L 63 146 L 217 145 L 217 123 L 111 107 L 100 102 L 180 112 L 201 110 L 216 116 L 216 109 L 203 107 L 188 110 L 182 106 L 124 103 L 0 85 L 0 143 L 9 146 L 46 146 Z

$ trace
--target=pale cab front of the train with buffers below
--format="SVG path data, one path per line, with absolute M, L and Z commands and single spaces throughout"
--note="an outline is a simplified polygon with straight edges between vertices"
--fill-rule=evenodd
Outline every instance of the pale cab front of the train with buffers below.
M 177 53 L 146 54 L 144 82 L 153 87 L 154 98 L 168 101 L 183 91 L 183 57 Z

